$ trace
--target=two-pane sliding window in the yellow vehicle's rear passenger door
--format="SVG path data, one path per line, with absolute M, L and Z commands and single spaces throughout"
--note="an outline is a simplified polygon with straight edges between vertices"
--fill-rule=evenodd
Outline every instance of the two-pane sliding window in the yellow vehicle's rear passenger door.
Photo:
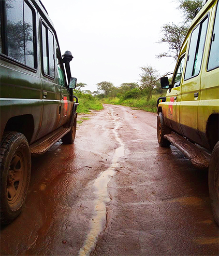
M 185 80 L 197 76 L 201 68 L 201 60 L 203 56 L 206 33 L 208 26 L 208 16 L 203 19 L 196 29 L 192 32 L 191 42 L 188 51 Z

